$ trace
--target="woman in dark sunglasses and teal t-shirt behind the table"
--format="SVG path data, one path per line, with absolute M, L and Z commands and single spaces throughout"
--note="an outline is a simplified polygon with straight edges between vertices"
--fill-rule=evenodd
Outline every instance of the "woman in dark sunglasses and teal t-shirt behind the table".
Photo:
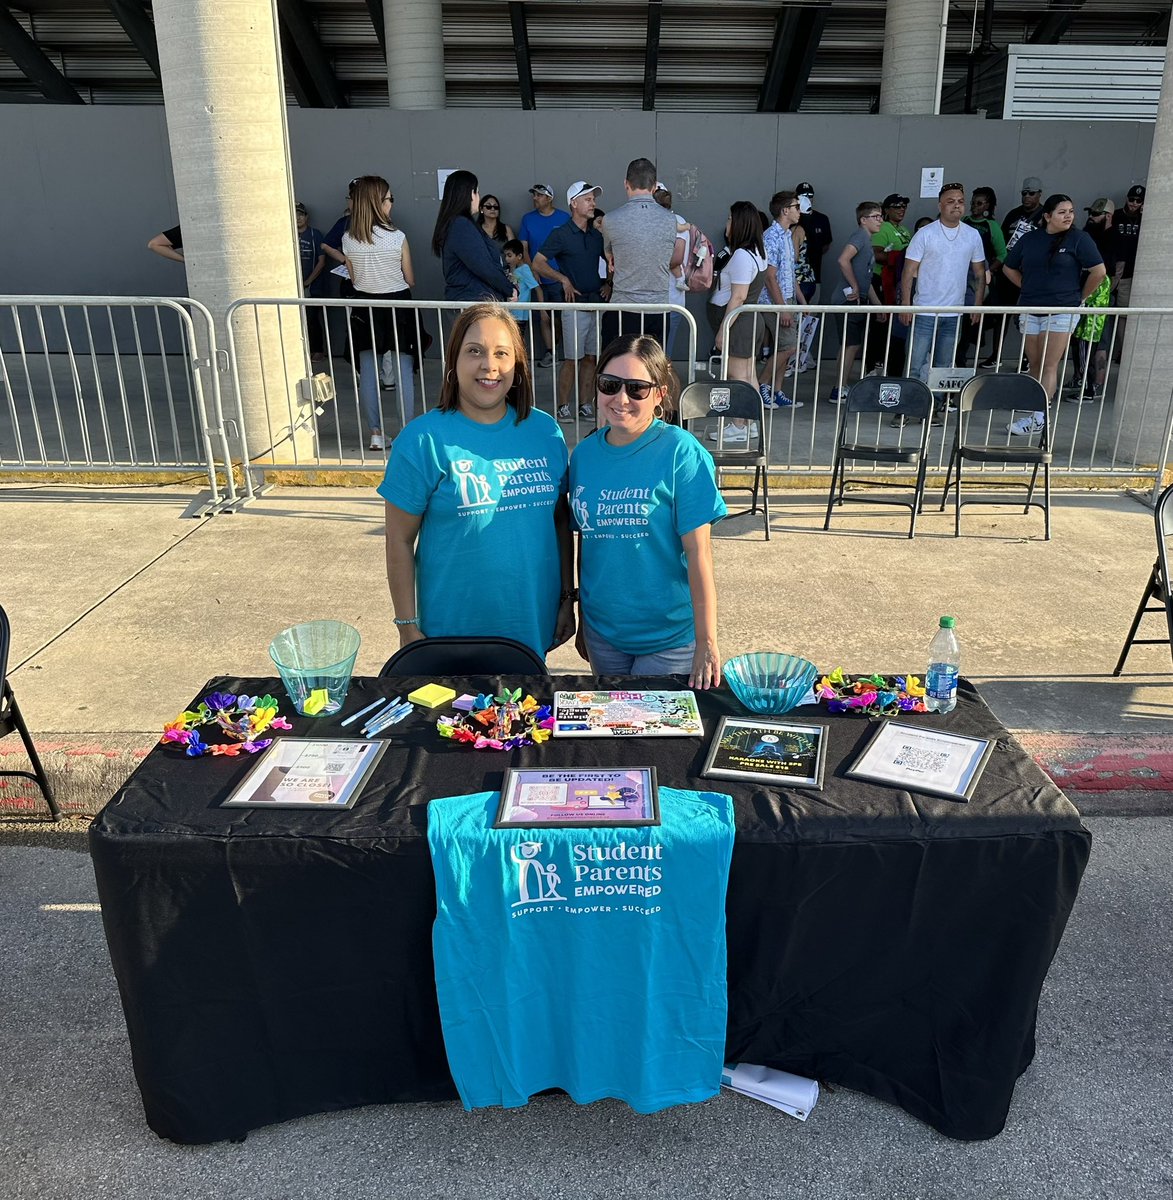
M 596 674 L 721 683 L 710 526 L 726 515 L 712 456 L 667 425 L 679 383 L 660 343 L 622 335 L 598 358 L 602 427 L 570 460 L 579 542 L 578 652 Z

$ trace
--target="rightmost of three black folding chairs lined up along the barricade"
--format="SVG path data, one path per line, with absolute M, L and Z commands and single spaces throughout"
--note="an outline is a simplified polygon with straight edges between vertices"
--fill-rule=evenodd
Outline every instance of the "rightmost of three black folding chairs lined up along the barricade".
M 1042 509 L 1043 536 L 1051 540 L 1051 450 L 1047 444 L 1051 430 L 1051 407 L 1047 403 L 1047 394 L 1037 379 L 1025 374 L 986 374 L 975 376 L 957 395 L 957 425 L 954 430 L 954 452 L 949 460 L 949 470 L 945 473 L 945 491 L 940 498 L 940 511 L 945 511 L 949 500 L 950 479 L 955 476 L 955 500 L 956 514 L 954 518 L 954 535 L 961 536 L 961 510 L 964 504 L 1021 504 L 1022 502 L 1009 496 L 992 496 L 988 492 L 981 496 L 972 496 L 969 499 L 961 498 L 961 468 L 963 462 L 989 462 L 1004 466 L 1029 467 L 1029 484 L 1019 484 L 1013 480 L 1005 481 L 1005 487 L 1024 487 L 1027 490 L 1027 503 L 1023 512 L 1034 509 Z M 976 413 L 1042 413 L 1043 424 L 1039 445 L 1019 444 L 1013 445 L 1007 442 L 1012 436 L 1001 425 L 987 418 L 989 434 L 997 442 L 970 440 L 970 430 Z M 1036 500 L 1035 484 L 1039 481 L 1039 468 L 1042 468 L 1042 500 Z

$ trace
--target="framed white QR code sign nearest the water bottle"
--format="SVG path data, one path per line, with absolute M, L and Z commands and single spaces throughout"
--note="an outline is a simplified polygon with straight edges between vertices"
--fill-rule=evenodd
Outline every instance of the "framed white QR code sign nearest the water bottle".
M 846 774 L 968 803 L 993 749 L 989 738 L 884 720 Z

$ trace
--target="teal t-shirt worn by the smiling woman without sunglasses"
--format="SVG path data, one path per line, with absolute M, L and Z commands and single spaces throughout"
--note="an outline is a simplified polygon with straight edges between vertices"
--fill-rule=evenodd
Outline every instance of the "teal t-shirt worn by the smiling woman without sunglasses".
M 545 655 L 561 574 L 554 505 L 566 493 L 566 442 L 534 409 L 495 425 L 432 409 L 391 446 L 379 494 L 422 514 L 415 551 L 427 637 L 512 637 Z

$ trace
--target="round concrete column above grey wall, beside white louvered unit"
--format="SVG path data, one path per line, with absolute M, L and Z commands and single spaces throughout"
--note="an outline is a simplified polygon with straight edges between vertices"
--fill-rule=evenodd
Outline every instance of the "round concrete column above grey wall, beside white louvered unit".
M 948 25 L 949 0 L 888 0 L 882 113 L 925 116 L 940 110 Z

